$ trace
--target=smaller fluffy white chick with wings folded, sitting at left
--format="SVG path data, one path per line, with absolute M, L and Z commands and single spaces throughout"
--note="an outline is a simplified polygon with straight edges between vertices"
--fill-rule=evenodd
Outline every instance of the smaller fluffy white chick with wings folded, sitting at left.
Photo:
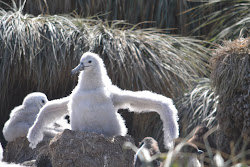
M 3 135 L 5 140 L 10 142 L 18 137 L 26 136 L 40 108 L 47 101 L 47 96 L 43 93 L 33 92 L 28 94 L 24 98 L 22 105 L 15 107 L 11 111 L 9 120 L 4 124 Z

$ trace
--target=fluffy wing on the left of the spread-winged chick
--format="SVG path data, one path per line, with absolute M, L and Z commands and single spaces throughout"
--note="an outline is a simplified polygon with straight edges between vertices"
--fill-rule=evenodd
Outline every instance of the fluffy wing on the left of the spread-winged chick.
M 34 124 L 30 127 L 27 138 L 31 148 L 36 148 L 36 145 L 43 139 L 43 130 L 46 126 L 56 122 L 56 120 L 68 111 L 69 96 L 47 102 L 38 113 Z

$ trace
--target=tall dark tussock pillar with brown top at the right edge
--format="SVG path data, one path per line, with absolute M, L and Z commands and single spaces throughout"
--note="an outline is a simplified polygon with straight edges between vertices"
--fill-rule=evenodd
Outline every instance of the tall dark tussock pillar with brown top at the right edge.
M 217 121 L 227 138 L 250 141 L 250 38 L 226 42 L 211 60 Z

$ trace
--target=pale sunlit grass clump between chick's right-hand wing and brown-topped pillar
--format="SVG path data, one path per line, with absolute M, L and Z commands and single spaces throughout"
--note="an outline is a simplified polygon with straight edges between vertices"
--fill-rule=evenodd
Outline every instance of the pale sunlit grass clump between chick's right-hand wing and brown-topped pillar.
M 188 135 L 197 126 L 209 129 L 217 125 L 215 119 L 217 97 L 208 78 L 201 78 L 197 85 L 176 102 L 180 117 L 180 135 Z

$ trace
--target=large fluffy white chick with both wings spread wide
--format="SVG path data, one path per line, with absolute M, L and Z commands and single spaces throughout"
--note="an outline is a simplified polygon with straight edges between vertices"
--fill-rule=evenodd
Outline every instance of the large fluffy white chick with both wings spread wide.
M 118 109 L 134 112 L 157 112 L 163 121 L 167 148 L 179 135 L 177 110 L 171 99 L 150 91 L 128 91 L 112 85 L 102 59 L 90 52 L 83 54 L 72 74 L 80 72 L 71 95 L 48 102 L 28 133 L 30 146 L 42 140 L 46 124 L 70 113 L 72 130 L 96 132 L 106 136 L 126 135 L 127 128 Z

